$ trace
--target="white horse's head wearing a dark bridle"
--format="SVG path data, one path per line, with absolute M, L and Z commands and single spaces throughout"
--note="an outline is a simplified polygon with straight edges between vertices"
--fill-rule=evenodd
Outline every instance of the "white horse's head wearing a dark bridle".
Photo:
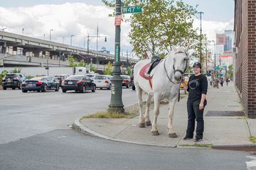
M 174 48 L 172 53 L 172 58 L 174 59 L 174 79 L 177 82 L 181 82 L 182 74 L 186 71 L 186 67 L 188 64 L 188 47 L 178 47 L 177 49 Z

